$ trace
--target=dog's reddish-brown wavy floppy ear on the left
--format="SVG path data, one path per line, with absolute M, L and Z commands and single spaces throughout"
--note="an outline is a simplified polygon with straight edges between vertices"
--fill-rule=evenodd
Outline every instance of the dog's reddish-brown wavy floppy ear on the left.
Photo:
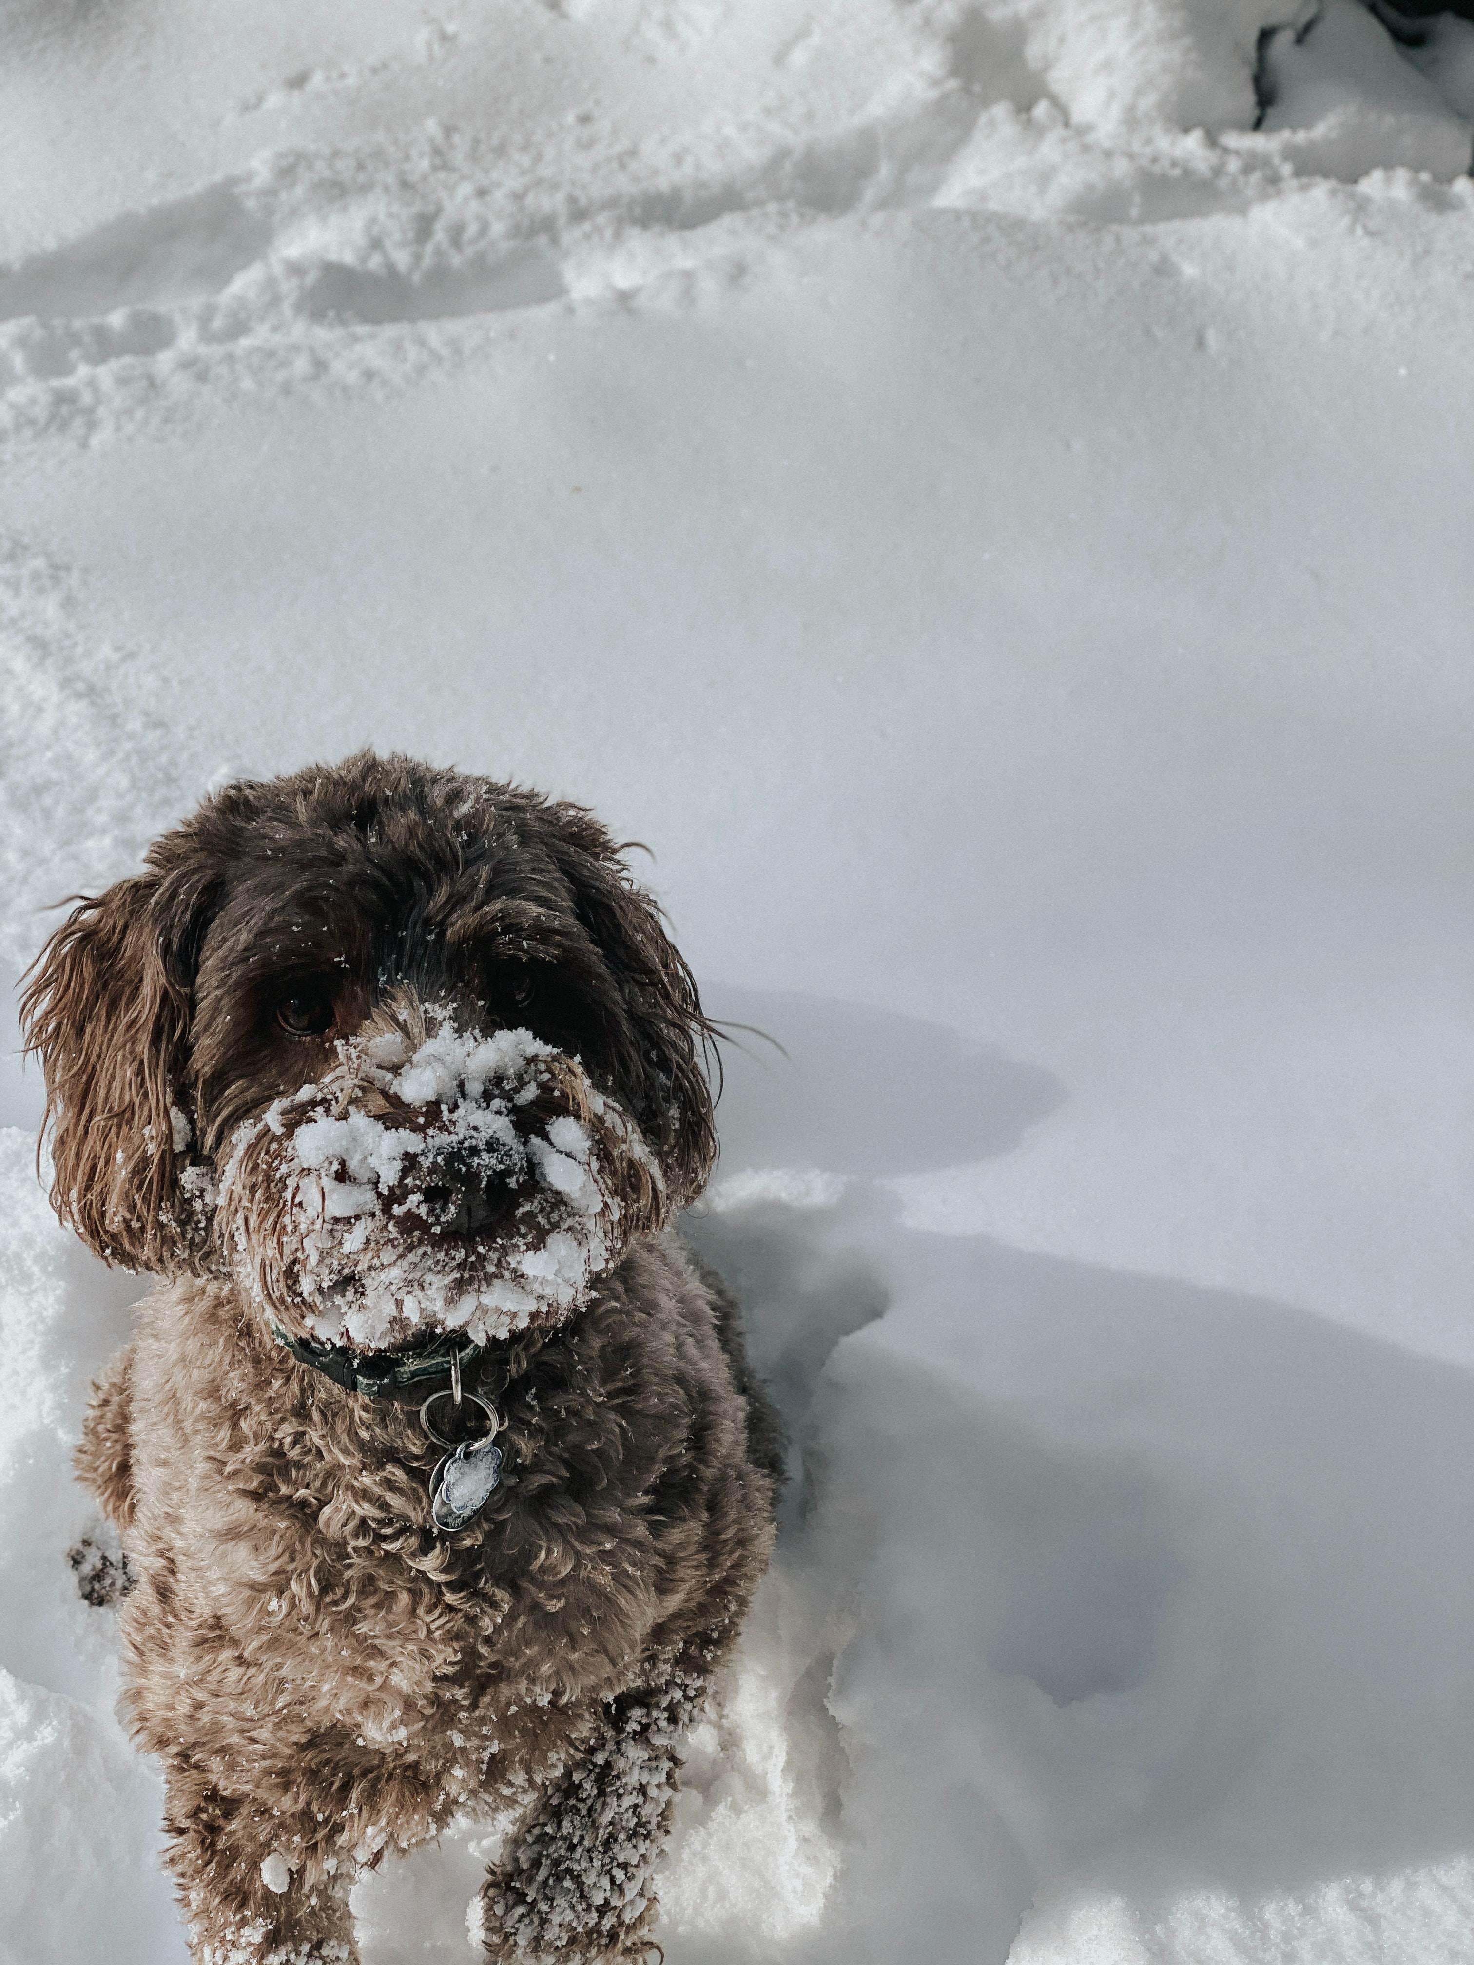
M 104 1262 L 189 1260 L 179 1175 L 193 967 L 189 896 L 157 872 L 83 900 L 37 955 L 22 998 L 45 1069 L 51 1205 Z

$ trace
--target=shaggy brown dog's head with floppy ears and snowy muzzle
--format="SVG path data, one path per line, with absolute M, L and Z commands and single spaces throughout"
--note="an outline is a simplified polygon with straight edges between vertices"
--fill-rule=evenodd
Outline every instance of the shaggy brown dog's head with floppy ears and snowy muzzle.
M 556 1320 L 715 1151 L 696 986 L 603 827 L 399 757 L 226 786 L 24 1014 L 63 1220 L 299 1336 Z

